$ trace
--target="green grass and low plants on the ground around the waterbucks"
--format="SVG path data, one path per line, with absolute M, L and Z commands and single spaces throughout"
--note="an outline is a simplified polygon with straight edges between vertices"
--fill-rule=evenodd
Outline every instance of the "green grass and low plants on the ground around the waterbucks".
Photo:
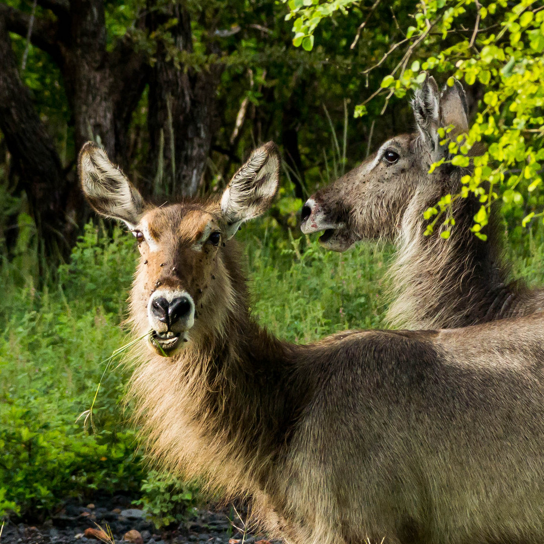
M 280 337 L 308 342 L 382 325 L 391 248 L 361 244 L 333 254 L 294 239 L 270 219 L 238 236 L 246 246 L 252 311 Z M 515 274 L 533 285 L 544 283 L 543 238 L 542 227 L 510 233 Z M 168 478 L 141 462 L 119 405 L 122 368 L 104 376 L 95 431 L 82 419 L 76 423 L 90 407 L 103 361 L 127 342 L 119 324 L 136 253 L 132 236 L 120 228 L 110 236 L 88 226 L 71 262 L 43 289 L 34 287 L 31 267 L 22 273 L 20 263 L 4 262 L 0 268 L 0 516 L 35 517 L 67 495 L 85 499 L 98 489 L 138 496 L 143 487 L 143 504 L 160 517 L 161 501 L 170 504 L 175 495 Z M 191 500 L 191 489 L 176 489 Z

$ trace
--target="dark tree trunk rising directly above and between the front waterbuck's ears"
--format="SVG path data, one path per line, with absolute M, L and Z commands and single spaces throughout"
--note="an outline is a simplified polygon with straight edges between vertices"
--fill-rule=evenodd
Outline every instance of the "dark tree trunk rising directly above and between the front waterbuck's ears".
M 172 18 L 178 21 L 169 28 L 176 50 L 191 52 L 191 22 L 182 2 L 149 9 L 146 26 L 157 32 Z M 211 150 L 220 69 L 180 67 L 169 53 L 158 40 L 149 80 L 150 192 L 194 195 Z

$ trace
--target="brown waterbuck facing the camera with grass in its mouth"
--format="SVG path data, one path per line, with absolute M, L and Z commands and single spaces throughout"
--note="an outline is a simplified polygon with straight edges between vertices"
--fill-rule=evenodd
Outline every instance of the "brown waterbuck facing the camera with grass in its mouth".
M 129 387 L 152 459 L 254 501 L 292 544 L 544 542 L 543 317 L 282 342 L 249 312 L 242 222 L 273 199 L 255 151 L 218 199 L 155 207 L 86 144 L 91 206 L 140 261 Z

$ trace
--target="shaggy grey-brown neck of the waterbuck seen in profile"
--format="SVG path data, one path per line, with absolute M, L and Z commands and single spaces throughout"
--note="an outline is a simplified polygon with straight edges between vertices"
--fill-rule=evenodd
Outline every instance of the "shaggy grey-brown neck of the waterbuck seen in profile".
M 514 314 L 518 295 L 524 293 L 522 286 L 507 282 L 494 221 L 485 228 L 486 242 L 471 232 L 480 207 L 474 197 L 455 201 L 449 239 L 441 238 L 438 226 L 424 236 L 428 221 L 423 211 L 444 194 L 459 193 L 460 173 L 451 179 L 442 191 L 436 189 L 442 183 L 418 188 L 404 214 L 390 270 L 394 302 L 387 319 L 392 326 L 431 329 L 484 323 Z

